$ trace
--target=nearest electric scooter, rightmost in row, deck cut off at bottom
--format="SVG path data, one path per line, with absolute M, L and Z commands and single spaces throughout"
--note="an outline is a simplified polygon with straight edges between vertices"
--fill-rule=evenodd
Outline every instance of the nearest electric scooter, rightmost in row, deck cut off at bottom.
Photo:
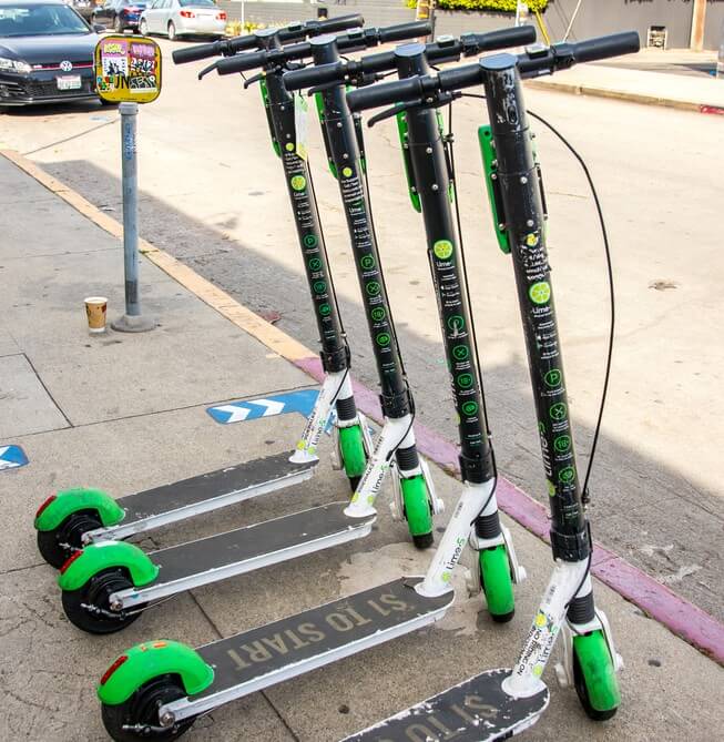
M 500 246 L 512 257 L 551 505 L 552 577 L 516 667 L 485 672 L 347 738 L 346 742 L 508 739 L 536 723 L 548 705 L 541 675 L 558 636 L 564 636 L 559 680 L 573 685 L 587 714 L 610 719 L 620 704 L 615 651 L 605 614 L 596 609 L 590 577 L 593 543 L 579 487 L 563 376 L 540 169 L 522 96 L 521 79 L 552 74 L 578 62 L 639 51 L 635 32 L 528 53 L 497 54 L 431 74 L 419 44 L 397 51 L 407 79 L 350 92 L 353 111 L 391 105 L 412 130 L 424 111 L 448 104 L 460 90 L 485 85 L 490 124 L 479 138 Z

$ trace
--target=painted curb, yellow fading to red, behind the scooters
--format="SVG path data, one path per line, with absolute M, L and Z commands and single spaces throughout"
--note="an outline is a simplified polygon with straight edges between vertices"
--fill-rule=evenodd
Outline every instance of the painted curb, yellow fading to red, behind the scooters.
M 114 237 L 122 238 L 123 226 L 80 193 L 64 185 L 18 152 L 0 150 L 0 155 L 65 201 L 93 224 Z M 165 251 L 154 247 L 145 240 L 139 242 L 140 252 L 170 277 L 239 329 L 289 360 L 317 382 L 322 382 L 324 377 L 322 363 L 316 354 L 306 346 L 236 302 L 226 292 Z M 353 385 L 357 407 L 365 415 L 380 423 L 381 410 L 378 395 L 356 382 L 353 382 Z M 420 453 L 448 474 L 455 476 L 460 474 L 458 451 L 452 443 L 419 423 L 415 425 L 415 433 Z M 497 495 L 500 509 L 506 515 L 534 536 L 549 542 L 549 515 L 540 502 L 502 477 L 498 481 Z M 714 617 L 599 543 L 594 545 L 591 572 L 621 597 L 665 626 L 676 637 L 724 665 L 724 624 L 716 621 Z

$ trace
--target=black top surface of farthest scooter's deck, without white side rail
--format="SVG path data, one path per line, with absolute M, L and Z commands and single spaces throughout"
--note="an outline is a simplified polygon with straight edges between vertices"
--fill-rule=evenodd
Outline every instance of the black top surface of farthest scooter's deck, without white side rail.
M 284 479 L 310 471 L 317 465 L 316 460 L 294 464 L 289 461 L 289 451 L 283 451 L 121 497 L 116 500 L 125 510 L 121 525 L 183 510 L 265 484 L 282 484 Z

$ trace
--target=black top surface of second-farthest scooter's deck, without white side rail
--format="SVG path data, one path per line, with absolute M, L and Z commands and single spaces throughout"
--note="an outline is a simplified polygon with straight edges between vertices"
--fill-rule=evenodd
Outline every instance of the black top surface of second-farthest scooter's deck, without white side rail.
M 284 552 L 309 546 L 308 551 L 324 548 L 324 541 L 341 542 L 346 536 L 358 538 L 369 531 L 376 516 L 349 518 L 344 510 L 347 502 L 330 502 L 288 516 L 266 520 L 246 528 L 237 528 L 197 541 L 181 543 L 150 553 L 160 567 L 155 582 L 167 583 L 191 576 L 202 577 L 226 566 L 242 562 L 264 567 L 283 560 Z M 356 535 L 355 531 L 364 531 Z M 316 548 L 315 548 L 315 545 Z M 329 543 L 332 546 L 332 543 Z M 251 566 L 249 566 L 251 567 Z M 251 567 L 255 569 L 255 567 Z M 248 570 L 241 570 L 248 571 Z M 236 571 L 235 573 L 241 573 Z M 208 575 L 206 582 L 213 581 Z M 149 586 L 144 586 L 149 587 Z

